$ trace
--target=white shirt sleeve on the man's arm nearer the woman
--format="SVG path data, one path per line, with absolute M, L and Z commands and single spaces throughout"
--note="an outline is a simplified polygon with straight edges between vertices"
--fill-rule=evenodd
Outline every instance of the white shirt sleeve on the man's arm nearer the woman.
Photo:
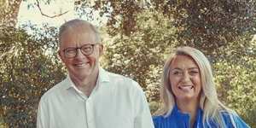
M 134 128 L 154 128 L 153 120 L 151 117 L 150 110 L 148 108 L 147 98 L 143 93 L 143 90 L 137 84 L 137 91 L 135 97 L 135 122 Z

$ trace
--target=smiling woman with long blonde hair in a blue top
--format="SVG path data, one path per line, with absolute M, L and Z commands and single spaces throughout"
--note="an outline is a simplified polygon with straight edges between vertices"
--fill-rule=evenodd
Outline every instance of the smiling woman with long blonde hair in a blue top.
M 166 61 L 162 83 L 155 128 L 249 127 L 218 101 L 211 65 L 200 50 L 177 48 Z

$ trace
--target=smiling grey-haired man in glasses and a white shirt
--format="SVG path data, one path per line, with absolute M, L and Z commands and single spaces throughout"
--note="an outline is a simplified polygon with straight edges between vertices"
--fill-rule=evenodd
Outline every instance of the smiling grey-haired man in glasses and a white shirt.
M 70 20 L 59 32 L 67 79 L 41 97 L 38 128 L 153 128 L 137 82 L 99 67 L 103 45 L 95 26 Z

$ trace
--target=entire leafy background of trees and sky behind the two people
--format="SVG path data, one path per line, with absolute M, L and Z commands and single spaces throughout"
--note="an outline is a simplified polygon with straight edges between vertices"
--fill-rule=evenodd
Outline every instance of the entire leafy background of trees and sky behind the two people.
M 1 0 L 0 128 L 36 127 L 40 97 L 66 77 L 58 27 L 98 27 L 102 67 L 137 80 L 151 112 L 160 74 L 177 46 L 211 61 L 218 97 L 256 128 L 256 0 Z

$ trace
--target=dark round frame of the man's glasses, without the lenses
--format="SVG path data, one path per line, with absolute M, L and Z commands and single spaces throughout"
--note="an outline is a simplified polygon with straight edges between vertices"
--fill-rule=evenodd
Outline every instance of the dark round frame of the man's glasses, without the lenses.
M 68 58 L 68 59 L 71 59 L 71 58 L 76 57 L 76 56 L 78 55 L 78 49 L 80 49 L 80 51 L 81 51 L 81 53 L 82 53 L 83 55 L 91 55 L 91 54 L 93 53 L 93 51 L 94 51 L 95 45 L 96 45 L 96 44 L 84 44 L 84 45 L 82 45 L 82 46 L 80 46 L 80 47 L 68 47 L 68 48 L 66 48 L 66 49 L 62 49 L 62 52 L 63 52 L 65 58 Z M 84 51 L 82 50 L 82 48 L 83 48 L 84 46 L 90 46 L 90 47 L 92 48 L 91 51 L 90 51 L 90 53 L 84 53 Z M 75 55 L 73 55 L 73 56 L 68 56 L 68 55 L 67 55 L 67 49 L 75 49 L 75 51 L 76 51 Z

